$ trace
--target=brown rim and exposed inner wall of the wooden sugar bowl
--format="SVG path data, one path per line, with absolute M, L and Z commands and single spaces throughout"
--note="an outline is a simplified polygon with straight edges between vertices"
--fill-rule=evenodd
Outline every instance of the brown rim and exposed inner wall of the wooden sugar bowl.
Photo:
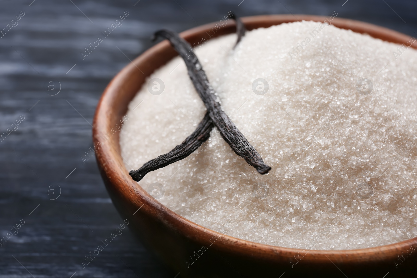
M 313 20 L 317 22 L 329 23 L 343 29 L 350 29 L 357 33 L 367 33 L 374 38 L 379 38 L 392 43 L 407 43 L 410 38 L 407 35 L 382 28 L 369 23 L 347 20 L 342 18 L 332 18 L 311 15 L 263 15 L 247 17 L 242 19 L 248 30 L 270 27 L 281 23 L 289 23 L 299 20 Z M 220 28 L 213 37 L 234 33 L 235 25 L 229 20 L 227 25 Z M 202 38 L 207 37 L 206 31 L 214 28 L 216 23 L 203 25 L 181 33 L 189 43 L 198 43 Z M 210 38 L 208 38 L 210 39 Z M 412 43 L 413 48 L 417 48 L 417 43 Z M 277 254 L 281 258 L 292 258 L 299 253 L 299 249 L 282 248 L 278 246 L 253 243 L 228 235 L 219 234 L 196 223 L 193 223 L 180 215 L 161 205 L 148 193 L 134 182 L 128 170 L 125 168 L 123 158 L 120 154 L 119 133 L 113 133 L 114 127 L 126 114 L 129 102 L 142 87 L 146 78 L 162 65 L 175 57 L 177 53 L 171 48 L 169 43 L 164 40 L 153 46 L 138 58 L 129 63 L 118 75 L 108 84 L 98 104 L 93 124 L 93 141 L 98 146 L 96 151 L 97 162 L 105 180 L 109 193 L 118 196 L 120 205 L 124 208 L 135 211 L 141 208 L 141 213 L 149 215 L 159 221 L 166 223 L 177 233 L 198 241 L 202 238 L 218 237 L 216 248 L 228 250 L 229 252 L 239 252 L 241 254 L 251 254 L 260 258 L 270 259 Z M 113 200 L 114 201 L 114 200 Z M 122 204 L 123 203 L 123 204 Z M 327 261 L 332 258 L 336 261 L 372 261 L 394 259 L 402 250 L 407 250 L 411 245 L 417 244 L 417 238 L 384 245 L 374 248 L 359 250 L 309 250 L 304 260 Z M 374 256 L 378 253 L 379 256 Z

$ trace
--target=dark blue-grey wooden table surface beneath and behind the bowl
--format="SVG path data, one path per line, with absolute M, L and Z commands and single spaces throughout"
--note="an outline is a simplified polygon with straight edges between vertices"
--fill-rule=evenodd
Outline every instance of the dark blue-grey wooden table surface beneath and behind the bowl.
M 0 133 L 6 133 L 0 139 L 0 233 L 8 238 L 0 247 L 0 277 L 178 274 L 127 228 L 85 268 L 81 263 L 123 223 L 95 159 L 83 161 L 93 147 L 95 106 L 111 78 L 152 45 L 149 38 L 159 28 L 186 30 L 229 10 L 241 16 L 335 10 L 338 17 L 417 36 L 417 3 L 411 0 L 32 1 L 0 2 L 0 28 L 7 30 L 0 39 Z M 85 47 L 123 14 L 128 16 L 116 22 L 121 25 L 83 60 Z M 19 118 L 24 120 L 13 125 Z

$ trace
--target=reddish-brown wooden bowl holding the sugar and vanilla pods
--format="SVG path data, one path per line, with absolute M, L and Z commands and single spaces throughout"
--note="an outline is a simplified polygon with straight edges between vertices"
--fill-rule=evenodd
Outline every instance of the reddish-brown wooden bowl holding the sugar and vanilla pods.
M 251 30 L 297 20 L 329 20 L 311 15 L 261 15 L 243 18 Z M 339 28 L 367 33 L 374 38 L 404 45 L 407 35 L 369 23 L 334 18 Z M 191 44 L 198 43 L 215 23 L 181 33 Z M 233 20 L 214 35 L 235 32 Z M 417 48 L 417 43 L 412 44 Z M 104 91 L 94 116 L 95 155 L 107 190 L 123 219 L 149 250 L 156 253 L 182 277 L 389 277 L 416 270 L 417 238 L 390 245 L 358 250 L 301 250 L 254 243 L 217 233 L 181 217 L 161 205 L 137 185 L 120 155 L 115 129 L 126 114 L 128 103 L 154 70 L 176 52 L 168 41 L 153 46 L 116 75 Z M 115 131 L 116 130 L 116 131 Z M 95 148 L 95 149 L 96 149 Z M 300 235 L 302 236 L 302 235 Z M 205 246 L 206 248 L 202 247 Z M 205 250 L 207 249 L 207 250 Z M 204 250 L 204 251 L 202 251 Z M 192 263 L 194 262 L 194 263 Z M 141 263 L 141 262 L 138 262 Z M 192 264 L 191 264 L 192 263 Z M 271 276 L 272 277 L 272 276 Z

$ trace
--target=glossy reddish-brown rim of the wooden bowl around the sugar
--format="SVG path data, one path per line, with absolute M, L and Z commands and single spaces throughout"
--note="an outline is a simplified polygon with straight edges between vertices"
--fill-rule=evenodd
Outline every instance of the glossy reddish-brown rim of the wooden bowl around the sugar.
M 325 16 L 316 15 L 257 15 L 242 18 L 245 25 L 249 30 L 266 27 L 272 25 L 278 25 L 281 23 L 289 23 L 300 20 L 312 20 L 317 22 L 324 22 L 329 20 Z M 364 23 L 356 20 L 349 20 L 344 18 L 333 18 L 331 23 L 339 28 L 351 29 L 356 33 L 367 33 L 374 38 L 393 42 L 393 43 L 405 43 L 409 41 L 410 37 L 402 33 L 398 33 L 394 30 L 383 28 L 370 23 Z M 200 36 L 203 32 L 211 30 L 216 23 L 209 23 L 201 25 L 190 30 L 182 32 L 181 37 L 186 40 L 195 39 L 196 36 Z M 229 24 L 229 23 L 228 23 Z M 233 32 L 234 23 L 230 22 L 229 33 Z M 226 33 L 223 33 L 226 34 Z M 221 35 L 223 35 L 221 34 Z M 417 48 L 417 43 L 412 43 L 412 48 Z M 162 52 L 173 51 L 168 42 L 162 41 L 146 50 L 140 56 L 138 56 L 132 63 L 129 63 L 124 67 L 108 84 L 101 96 L 97 109 L 95 111 L 93 120 L 93 143 L 97 145 L 101 138 L 100 135 L 106 134 L 114 126 L 118 120 L 124 115 L 120 111 L 115 114 L 114 108 L 117 103 L 118 95 L 125 92 L 124 83 L 126 82 L 126 76 L 138 71 L 137 65 L 145 63 L 146 59 L 150 55 L 158 55 Z M 170 59 L 166 60 L 167 63 Z M 159 66 L 157 67 L 159 68 Z M 148 75 L 147 75 L 148 76 Z M 140 84 L 140 87 L 143 83 Z M 127 90 L 127 89 L 126 89 Z M 136 94 L 134 94 L 136 95 Z M 133 96 L 134 96 L 133 95 Z M 130 102 L 130 100 L 129 100 Z M 127 105 L 124 109 L 124 113 L 127 111 Z M 114 117 L 117 118 L 115 121 Z M 243 256 L 251 256 L 265 260 L 276 260 L 277 258 L 289 259 L 293 256 L 306 252 L 306 249 L 286 248 L 274 245 L 266 245 L 262 243 L 255 243 L 249 240 L 243 240 L 235 238 L 229 235 L 215 232 L 201 225 L 193 223 L 192 221 L 183 218 L 181 215 L 173 212 L 169 208 L 165 207 L 157 200 L 152 198 L 141 186 L 137 186 L 130 175 L 128 170 L 123 164 L 123 158 L 120 155 L 119 135 L 113 136 L 109 143 L 103 144 L 98 151 L 96 151 L 96 158 L 98 166 L 102 172 L 103 178 L 108 180 L 106 185 L 110 188 L 110 191 L 120 194 L 121 198 L 129 203 L 129 206 L 141 209 L 141 213 L 145 213 L 149 217 L 152 217 L 158 221 L 161 221 L 165 225 L 169 225 L 172 230 L 180 233 L 190 240 L 197 243 L 203 243 L 203 239 L 217 238 L 216 244 L 212 248 L 219 251 L 231 254 L 238 254 Z M 108 188 L 109 189 L 109 188 Z M 133 213 L 133 211 L 132 211 Z M 417 238 L 411 238 L 398 243 L 389 245 L 382 245 L 372 248 L 363 249 L 349 249 L 349 250 L 308 250 L 303 254 L 304 261 L 310 261 L 318 263 L 320 261 L 328 262 L 331 260 L 333 263 L 369 263 L 377 262 L 381 260 L 396 260 L 396 256 L 401 254 L 401 251 L 411 248 L 411 246 L 417 246 Z

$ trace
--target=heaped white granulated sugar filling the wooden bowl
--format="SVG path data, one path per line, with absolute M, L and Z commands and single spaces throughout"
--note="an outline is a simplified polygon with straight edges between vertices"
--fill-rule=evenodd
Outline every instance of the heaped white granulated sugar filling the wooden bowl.
M 257 173 L 214 129 L 193 156 L 139 184 L 161 183 L 168 208 L 259 243 L 343 250 L 416 237 L 417 51 L 306 21 L 249 31 L 233 50 L 235 40 L 210 40 L 196 55 L 272 170 Z M 152 95 L 145 84 L 129 105 L 120 137 L 128 170 L 180 144 L 206 111 L 181 58 L 150 78 L 165 90 Z M 252 90 L 257 78 L 269 83 L 265 95 Z M 362 78 L 369 95 L 357 90 L 367 90 Z

